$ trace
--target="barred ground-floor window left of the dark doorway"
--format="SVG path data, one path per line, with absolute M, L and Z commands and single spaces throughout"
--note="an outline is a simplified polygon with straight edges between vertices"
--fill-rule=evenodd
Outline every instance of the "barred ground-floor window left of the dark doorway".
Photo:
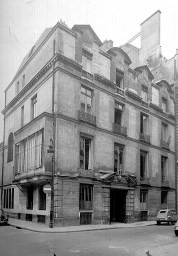
M 93 186 L 90 184 L 80 184 L 79 210 L 93 209 Z

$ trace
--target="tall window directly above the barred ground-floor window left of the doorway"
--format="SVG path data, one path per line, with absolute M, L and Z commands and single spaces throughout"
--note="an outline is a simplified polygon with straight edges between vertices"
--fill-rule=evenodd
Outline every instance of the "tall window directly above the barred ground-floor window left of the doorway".
M 80 168 L 92 169 L 92 139 L 80 136 Z

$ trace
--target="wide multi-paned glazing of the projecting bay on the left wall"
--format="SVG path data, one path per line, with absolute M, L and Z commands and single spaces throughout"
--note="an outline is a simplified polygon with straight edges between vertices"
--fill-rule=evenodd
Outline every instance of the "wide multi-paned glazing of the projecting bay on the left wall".
M 15 172 L 40 167 L 43 164 L 43 129 L 15 144 Z

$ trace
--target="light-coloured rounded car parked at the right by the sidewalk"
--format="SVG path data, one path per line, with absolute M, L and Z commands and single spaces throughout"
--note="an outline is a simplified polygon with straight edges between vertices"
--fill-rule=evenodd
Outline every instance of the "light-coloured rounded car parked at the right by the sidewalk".
M 161 209 L 158 212 L 156 221 L 157 225 L 160 225 L 161 222 L 168 222 L 169 225 L 172 225 L 173 222 L 178 220 L 178 213 L 174 209 Z

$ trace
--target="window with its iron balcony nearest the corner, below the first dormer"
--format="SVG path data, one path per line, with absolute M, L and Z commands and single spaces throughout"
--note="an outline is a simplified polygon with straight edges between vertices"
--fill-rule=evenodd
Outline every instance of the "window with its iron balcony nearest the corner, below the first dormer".
M 80 89 L 80 110 L 78 119 L 96 125 L 96 116 L 92 114 L 93 91 L 81 86 Z

